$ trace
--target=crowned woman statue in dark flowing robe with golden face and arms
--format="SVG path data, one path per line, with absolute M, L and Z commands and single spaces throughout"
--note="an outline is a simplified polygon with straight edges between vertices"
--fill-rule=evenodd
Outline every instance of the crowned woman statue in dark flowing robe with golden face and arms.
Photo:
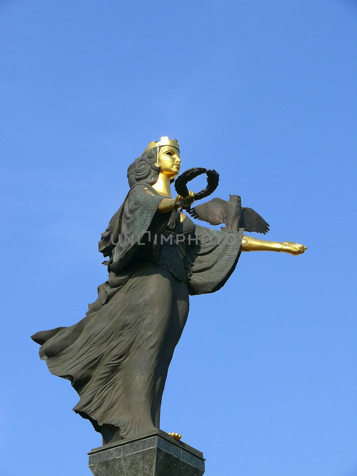
M 151 142 L 128 169 L 129 192 L 99 241 L 109 258 L 108 280 L 86 316 L 32 339 L 50 372 L 70 380 L 105 443 L 159 428 L 161 398 L 174 349 L 188 317 L 188 296 L 220 289 L 242 251 L 306 247 L 196 225 L 183 213 L 192 203 L 172 198 L 178 175 L 177 140 Z M 177 239 L 180 237 L 180 239 Z M 208 239 L 207 239 L 208 238 Z M 227 239 L 230 238 L 230 239 Z

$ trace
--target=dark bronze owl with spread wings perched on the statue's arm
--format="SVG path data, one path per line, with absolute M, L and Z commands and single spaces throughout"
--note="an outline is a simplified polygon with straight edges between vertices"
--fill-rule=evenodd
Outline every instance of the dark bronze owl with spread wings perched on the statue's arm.
M 210 225 L 224 223 L 226 227 L 221 229 L 230 233 L 238 233 L 239 228 L 264 235 L 269 231 L 269 224 L 253 208 L 242 207 L 239 195 L 229 195 L 228 201 L 213 198 L 191 208 L 189 214 L 198 220 L 207 221 Z

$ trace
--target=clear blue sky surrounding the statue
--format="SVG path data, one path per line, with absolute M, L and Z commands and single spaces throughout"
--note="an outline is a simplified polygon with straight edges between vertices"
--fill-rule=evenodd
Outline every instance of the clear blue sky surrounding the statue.
M 30 335 L 95 300 L 126 169 L 163 135 L 308 250 L 243 254 L 191 298 L 161 428 L 207 476 L 356 476 L 356 21 L 352 0 L 0 1 L 1 476 L 90 474 L 100 436 Z

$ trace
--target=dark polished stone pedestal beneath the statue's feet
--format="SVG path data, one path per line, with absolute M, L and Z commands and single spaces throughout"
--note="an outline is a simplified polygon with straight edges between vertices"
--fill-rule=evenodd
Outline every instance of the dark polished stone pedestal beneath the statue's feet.
M 92 449 L 94 476 L 202 476 L 203 454 L 164 431 Z

